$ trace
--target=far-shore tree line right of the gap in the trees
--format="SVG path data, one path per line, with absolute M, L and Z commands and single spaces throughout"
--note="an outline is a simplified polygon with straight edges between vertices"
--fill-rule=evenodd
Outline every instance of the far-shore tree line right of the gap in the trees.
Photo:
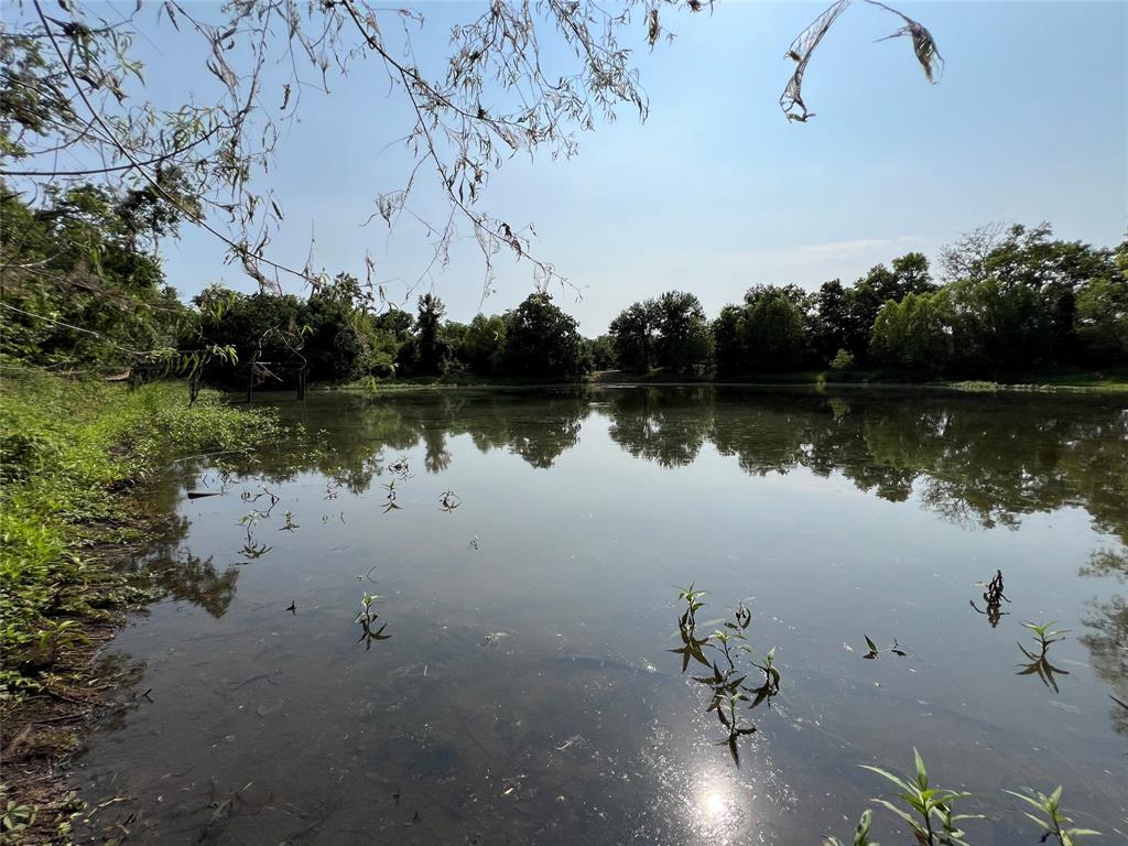
M 671 291 L 611 321 L 617 367 L 739 378 L 880 368 L 987 374 L 1128 363 L 1128 241 L 1116 250 L 1052 237 L 1049 226 L 987 227 L 946 247 L 943 280 L 920 253 L 818 291 L 754 285 L 707 323 Z

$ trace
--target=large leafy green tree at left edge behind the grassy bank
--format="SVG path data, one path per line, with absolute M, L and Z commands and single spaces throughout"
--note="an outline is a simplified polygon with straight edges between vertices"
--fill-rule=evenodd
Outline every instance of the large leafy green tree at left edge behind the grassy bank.
M 38 209 L 0 183 L 0 350 L 39 364 L 165 360 L 191 314 L 165 285 L 159 238 L 175 215 L 141 192 L 50 191 Z

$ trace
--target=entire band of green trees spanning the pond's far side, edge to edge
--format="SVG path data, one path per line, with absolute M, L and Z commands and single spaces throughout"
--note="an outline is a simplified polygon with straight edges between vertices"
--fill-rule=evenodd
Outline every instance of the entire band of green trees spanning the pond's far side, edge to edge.
M 2 184 L 0 184 L 2 188 Z M 625 308 L 597 338 L 552 296 L 449 320 L 425 293 L 378 307 L 342 273 L 305 298 L 211 285 L 191 305 L 165 283 L 158 240 L 176 215 L 148 190 L 53 191 L 38 208 L 0 191 L 0 354 L 53 368 L 191 361 L 215 380 L 305 363 L 317 381 L 461 374 L 570 380 L 591 370 L 742 379 L 869 369 L 992 376 L 1128 364 L 1128 240 L 1116 249 L 1049 226 L 986 227 L 946 247 L 934 279 L 909 253 L 853 284 L 757 284 L 712 320 L 693 293 Z

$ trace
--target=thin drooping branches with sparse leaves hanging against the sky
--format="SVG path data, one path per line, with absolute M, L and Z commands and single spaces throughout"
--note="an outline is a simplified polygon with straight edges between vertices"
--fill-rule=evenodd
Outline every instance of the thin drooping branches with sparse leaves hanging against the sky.
M 846 2 L 820 20 L 829 26 Z M 672 38 L 666 17 L 706 8 L 712 3 L 702 0 L 492 0 L 452 27 L 446 55 L 425 67 L 413 50 L 424 19 L 409 7 L 165 0 L 124 15 L 112 6 L 60 0 L 49 8 L 27 0 L 0 30 L 0 176 L 9 186 L 82 180 L 150 192 L 175 217 L 222 241 L 228 261 L 262 290 L 281 291 L 287 277 L 316 289 L 325 280 L 312 258 L 297 267 L 272 257 L 283 205 L 258 177 L 268 173 L 303 97 L 327 94 L 363 65 L 408 106 L 399 140 L 414 159 L 397 187 L 373 190 L 370 220 L 390 227 L 406 217 L 424 227 L 433 253 L 421 280 L 450 261 L 455 239 L 468 227 L 484 261 L 486 291 L 502 252 L 529 263 L 543 290 L 562 277 L 531 252 L 531 226 L 484 210 L 490 175 L 518 153 L 574 155 L 578 133 L 614 120 L 620 106 L 644 120 L 649 105 L 631 34 L 654 47 Z M 931 73 L 935 45 L 920 25 L 905 20 L 898 34 L 913 37 Z M 813 37 L 808 30 L 793 45 L 800 68 L 785 98 L 802 108 L 800 120 L 809 116 L 802 71 L 822 34 L 825 27 Z M 186 76 L 195 86 L 206 73 L 210 95 L 157 102 L 138 58 L 139 42 L 157 37 L 166 44 L 180 38 L 197 51 L 203 68 Z M 794 116 L 786 103 L 784 109 Z M 413 206 L 424 175 L 447 201 L 438 220 Z M 374 263 L 367 264 L 368 283 L 379 289 Z

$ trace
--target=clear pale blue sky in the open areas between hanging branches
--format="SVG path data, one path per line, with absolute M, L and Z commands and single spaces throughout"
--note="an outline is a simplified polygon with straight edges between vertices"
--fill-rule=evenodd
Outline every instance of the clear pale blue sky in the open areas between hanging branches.
M 538 255 L 582 291 L 581 300 L 554 294 L 585 334 L 663 290 L 693 291 L 713 315 L 749 285 L 853 280 L 909 250 L 934 256 L 989 221 L 1047 220 L 1063 237 L 1121 239 L 1128 3 L 908 2 L 946 60 L 938 85 L 925 81 L 907 39 L 874 43 L 897 18 L 857 5 L 808 71 L 817 117 L 792 124 L 777 104 L 792 69 L 783 54 L 823 7 L 722 0 L 712 15 L 669 16 L 672 44 L 651 53 L 638 38 L 645 124 L 624 108 L 581 136 L 578 158 L 518 158 L 493 177 L 482 208 L 536 224 Z M 451 23 L 481 8 L 418 6 L 424 61 L 441 55 Z M 165 30 L 146 49 L 166 50 Z M 150 59 L 158 90 L 205 89 L 183 59 L 171 46 Z M 368 62 L 332 96 L 306 96 L 268 176 L 287 210 L 272 255 L 301 266 L 312 228 L 318 267 L 363 275 L 368 250 L 389 294 L 403 298 L 428 263 L 426 239 L 411 226 L 390 236 L 382 223 L 360 226 L 408 165 L 397 148 L 379 152 L 408 126 L 384 80 Z M 424 190 L 415 209 L 438 217 L 435 192 Z M 184 296 L 219 280 L 254 287 L 204 233 L 185 230 L 164 252 Z M 449 316 L 468 320 L 482 301 L 482 261 L 472 243 L 452 258 L 420 291 L 433 285 Z M 502 256 L 484 309 L 511 308 L 531 289 L 530 267 Z

